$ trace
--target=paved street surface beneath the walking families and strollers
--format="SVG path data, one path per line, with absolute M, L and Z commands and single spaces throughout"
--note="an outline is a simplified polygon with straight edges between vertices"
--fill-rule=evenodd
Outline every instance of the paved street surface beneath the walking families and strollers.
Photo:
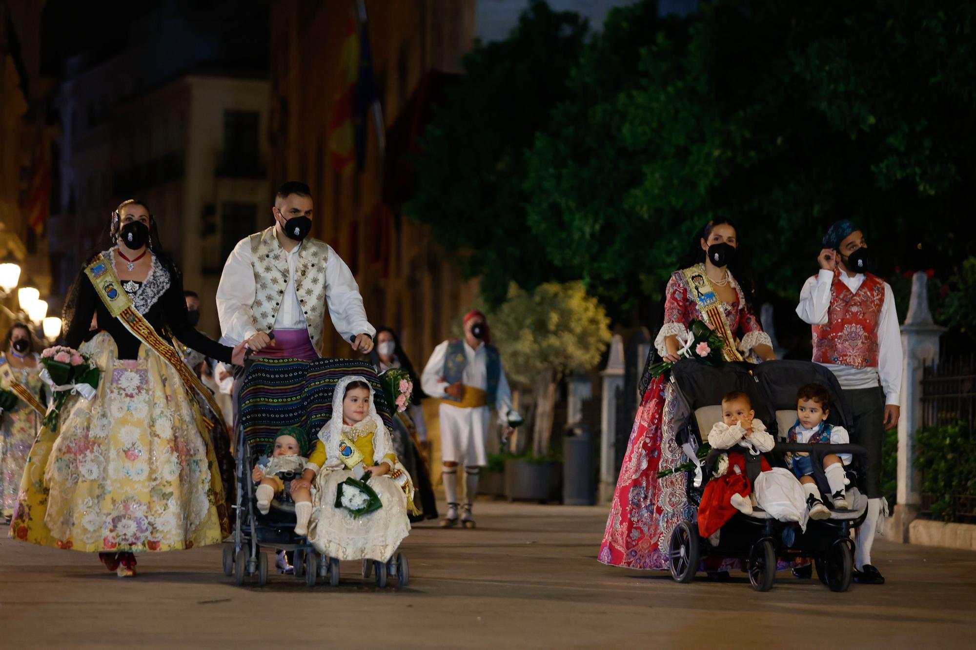
M 875 545 L 883 587 L 832 593 L 780 574 L 756 593 L 678 585 L 596 562 L 604 508 L 479 503 L 474 531 L 425 524 L 412 581 L 337 589 L 274 575 L 236 588 L 219 547 L 140 558 L 121 580 L 95 555 L 0 541 L 0 647 L 973 647 L 976 554 Z

